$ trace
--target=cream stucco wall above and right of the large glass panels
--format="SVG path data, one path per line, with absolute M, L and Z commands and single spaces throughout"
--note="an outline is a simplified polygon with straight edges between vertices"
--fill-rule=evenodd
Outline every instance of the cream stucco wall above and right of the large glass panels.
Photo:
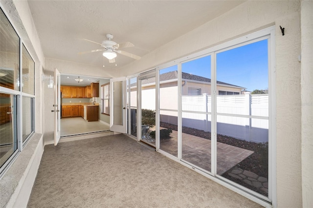
M 301 64 L 298 62 L 298 56 L 301 54 L 300 3 L 299 0 L 246 1 L 224 15 L 159 47 L 142 57 L 140 62 L 128 64 L 124 67 L 125 70 L 123 68 L 121 70 L 122 75 L 132 75 L 275 25 L 276 91 L 269 93 L 275 94 L 275 100 L 272 102 L 276 102 L 276 128 L 274 129 L 276 130 L 276 166 L 274 167 L 276 167 L 277 193 L 274 193 L 273 204 L 278 207 L 302 207 L 301 178 L 303 176 L 300 156 L 302 140 L 299 105 Z M 284 36 L 280 25 L 285 27 Z M 310 37 L 308 34 L 305 35 L 307 39 Z M 308 93 L 312 95 L 312 92 Z M 312 125 L 312 122 L 309 124 Z M 312 146 L 310 149 L 312 151 Z M 305 162 L 309 158 L 304 157 L 302 160 Z M 308 181 L 312 184 L 312 179 L 306 182 Z

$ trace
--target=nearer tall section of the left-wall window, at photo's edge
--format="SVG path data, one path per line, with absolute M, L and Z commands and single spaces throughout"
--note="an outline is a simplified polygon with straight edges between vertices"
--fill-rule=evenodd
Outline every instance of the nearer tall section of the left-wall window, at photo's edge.
M 20 38 L 0 10 L 0 173 L 17 154 L 18 95 L 20 95 Z M 22 79 L 21 79 L 22 80 Z

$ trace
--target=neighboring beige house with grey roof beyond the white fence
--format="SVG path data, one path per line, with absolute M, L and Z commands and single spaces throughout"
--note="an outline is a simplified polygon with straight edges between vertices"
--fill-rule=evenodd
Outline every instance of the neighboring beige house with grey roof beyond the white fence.
M 211 79 L 192 75 L 185 72 L 181 73 L 182 83 L 181 91 L 182 96 L 186 95 L 211 95 Z M 177 87 L 178 87 L 178 72 L 171 71 L 160 74 L 160 100 L 162 109 L 177 109 Z M 156 109 L 156 78 L 151 77 L 141 80 L 142 97 L 145 98 L 142 102 L 141 108 L 143 109 Z M 136 103 L 136 83 L 132 85 L 131 103 Z M 219 95 L 240 95 L 245 87 L 237 86 L 234 84 L 223 83 L 217 81 L 216 91 Z M 134 106 L 133 106 L 134 107 Z

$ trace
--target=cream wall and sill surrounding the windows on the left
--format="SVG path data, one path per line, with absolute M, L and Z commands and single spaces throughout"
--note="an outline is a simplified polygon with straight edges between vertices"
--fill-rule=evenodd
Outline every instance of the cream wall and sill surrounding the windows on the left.
M 27 1 L 0 0 L 0 5 L 9 21 L 14 25 L 27 51 L 36 62 L 35 131 L 37 133 L 23 147 L 19 157 L 16 158 L 0 180 L 0 207 L 25 207 L 44 152 L 44 139 L 41 134 L 45 130 L 43 125 L 44 102 L 41 75 L 45 65 L 45 57 Z

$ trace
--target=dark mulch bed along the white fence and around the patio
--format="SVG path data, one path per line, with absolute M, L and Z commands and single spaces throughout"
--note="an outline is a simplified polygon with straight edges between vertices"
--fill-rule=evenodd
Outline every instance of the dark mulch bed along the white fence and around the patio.
M 160 122 L 160 126 L 163 128 L 168 128 L 168 129 L 177 131 L 177 125 Z M 211 140 L 211 132 L 205 132 L 203 130 L 198 130 L 198 129 L 183 126 L 182 133 L 186 133 L 186 134 L 190 134 L 190 135 L 194 135 L 197 137 Z M 265 146 L 264 144 L 260 144 L 260 143 L 247 142 L 244 140 L 235 139 L 233 137 L 228 137 L 228 136 L 224 136 L 220 134 L 217 135 L 217 142 L 254 151 L 254 153 L 248 156 L 245 160 L 237 164 L 237 167 L 254 172 L 255 174 L 259 176 L 268 178 L 267 160 L 265 160 L 265 162 L 264 161 L 262 162 L 262 158 L 264 159 L 268 158 L 268 151 L 267 151 L 268 146 Z M 263 155 L 266 155 L 266 156 L 263 156 Z M 231 169 L 228 171 L 231 171 Z M 227 175 L 228 171 L 225 172 L 222 176 L 230 179 L 229 176 Z

